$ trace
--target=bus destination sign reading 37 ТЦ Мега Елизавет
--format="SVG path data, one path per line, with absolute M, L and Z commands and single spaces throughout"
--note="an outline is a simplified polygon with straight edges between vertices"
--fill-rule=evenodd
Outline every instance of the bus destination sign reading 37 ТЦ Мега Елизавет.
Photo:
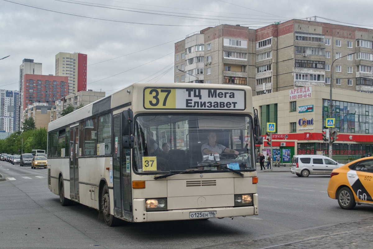
M 245 110 L 245 90 L 145 88 L 145 109 Z

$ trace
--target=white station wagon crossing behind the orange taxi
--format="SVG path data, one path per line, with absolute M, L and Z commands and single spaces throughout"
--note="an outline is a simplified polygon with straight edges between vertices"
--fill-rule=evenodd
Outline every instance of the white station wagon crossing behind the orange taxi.
M 291 162 L 291 173 L 298 177 L 311 175 L 330 175 L 333 169 L 339 168 L 339 164 L 327 156 L 319 155 L 295 155 Z

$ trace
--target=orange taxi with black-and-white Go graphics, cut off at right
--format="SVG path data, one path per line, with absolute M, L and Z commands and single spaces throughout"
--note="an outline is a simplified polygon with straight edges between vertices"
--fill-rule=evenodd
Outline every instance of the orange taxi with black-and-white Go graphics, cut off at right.
M 333 169 L 327 193 L 343 209 L 352 209 L 356 203 L 373 205 L 373 157 Z

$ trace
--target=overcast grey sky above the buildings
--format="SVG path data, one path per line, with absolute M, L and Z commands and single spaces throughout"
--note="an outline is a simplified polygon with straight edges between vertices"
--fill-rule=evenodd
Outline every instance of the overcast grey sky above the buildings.
M 173 82 L 174 43 L 192 32 L 315 15 L 373 28 L 372 9 L 372 0 L 0 0 L 0 59 L 10 55 L 0 60 L 0 89 L 18 90 L 25 58 L 54 74 L 59 52 L 88 55 L 88 89 L 113 93 L 135 82 Z

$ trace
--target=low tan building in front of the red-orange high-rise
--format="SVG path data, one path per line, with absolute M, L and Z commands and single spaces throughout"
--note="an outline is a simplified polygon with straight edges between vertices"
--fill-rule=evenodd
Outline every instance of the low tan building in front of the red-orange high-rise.
M 48 103 L 33 103 L 23 111 L 23 119 L 32 117 L 36 128 L 48 128 L 52 106 Z

